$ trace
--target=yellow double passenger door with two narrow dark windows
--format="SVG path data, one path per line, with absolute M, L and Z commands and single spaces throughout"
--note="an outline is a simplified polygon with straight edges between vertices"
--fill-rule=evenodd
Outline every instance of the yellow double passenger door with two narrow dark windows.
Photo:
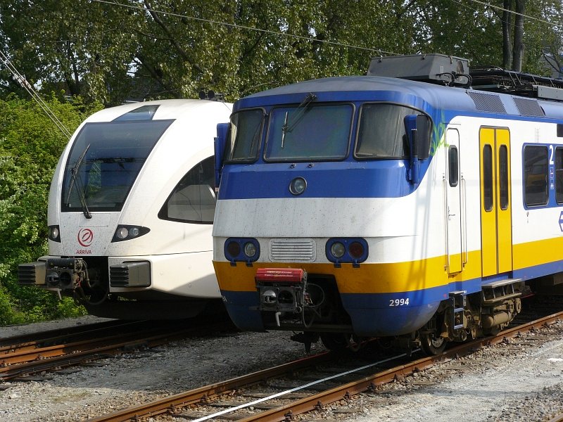
M 481 270 L 482 276 L 512 271 L 510 132 L 481 127 Z

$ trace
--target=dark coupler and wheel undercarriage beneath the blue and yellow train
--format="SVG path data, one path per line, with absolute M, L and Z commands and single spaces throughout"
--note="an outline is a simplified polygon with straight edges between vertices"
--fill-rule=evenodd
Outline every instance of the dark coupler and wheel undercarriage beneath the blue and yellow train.
M 333 277 L 308 275 L 301 269 L 259 269 L 256 288 L 257 310 L 266 330 L 296 331 L 292 339 L 304 343 L 306 350 L 319 338 L 331 350 L 359 347 L 362 338 L 354 334 Z M 450 292 L 422 328 L 384 341 L 440 354 L 450 342 L 498 333 L 521 312 L 525 289 L 520 279 L 504 279 L 484 283 L 481 292 L 469 295 Z

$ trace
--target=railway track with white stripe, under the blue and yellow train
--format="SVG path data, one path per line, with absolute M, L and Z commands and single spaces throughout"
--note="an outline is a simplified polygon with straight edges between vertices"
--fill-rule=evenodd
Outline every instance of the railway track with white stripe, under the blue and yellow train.
M 169 414 L 192 422 L 207 420 L 289 421 L 298 414 L 322 410 L 327 405 L 348 401 L 360 392 L 410 376 L 436 362 L 470 354 L 480 347 L 531 331 L 563 318 L 563 312 L 502 331 L 446 350 L 437 357 L 407 357 L 405 354 L 381 356 L 372 362 L 346 366 L 350 359 L 322 353 L 272 369 L 258 371 L 221 383 L 207 385 L 165 397 L 155 402 L 122 409 L 92 418 L 90 422 L 129 421 Z M 358 359 L 354 359 L 358 363 Z M 554 419 L 557 421 L 557 419 Z

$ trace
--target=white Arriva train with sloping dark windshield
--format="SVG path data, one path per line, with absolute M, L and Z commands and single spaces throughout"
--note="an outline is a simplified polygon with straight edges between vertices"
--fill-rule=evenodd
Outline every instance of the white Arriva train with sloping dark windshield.
M 148 101 L 88 117 L 51 183 L 49 255 L 20 264 L 20 284 L 115 318 L 184 318 L 221 307 L 213 138 L 231 108 Z

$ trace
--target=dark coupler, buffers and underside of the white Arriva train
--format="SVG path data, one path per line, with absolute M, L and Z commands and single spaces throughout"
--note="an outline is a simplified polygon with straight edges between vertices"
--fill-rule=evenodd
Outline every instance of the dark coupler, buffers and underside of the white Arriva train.
M 20 264 L 22 285 L 51 290 L 73 298 L 91 315 L 115 319 L 184 319 L 198 314 L 224 312 L 220 299 L 190 298 L 151 286 L 148 262 L 108 265 L 108 257 L 45 257 Z M 110 286 L 120 288 L 111 292 Z M 124 291 L 132 288 L 130 291 Z M 139 289 L 145 288 L 145 289 Z

